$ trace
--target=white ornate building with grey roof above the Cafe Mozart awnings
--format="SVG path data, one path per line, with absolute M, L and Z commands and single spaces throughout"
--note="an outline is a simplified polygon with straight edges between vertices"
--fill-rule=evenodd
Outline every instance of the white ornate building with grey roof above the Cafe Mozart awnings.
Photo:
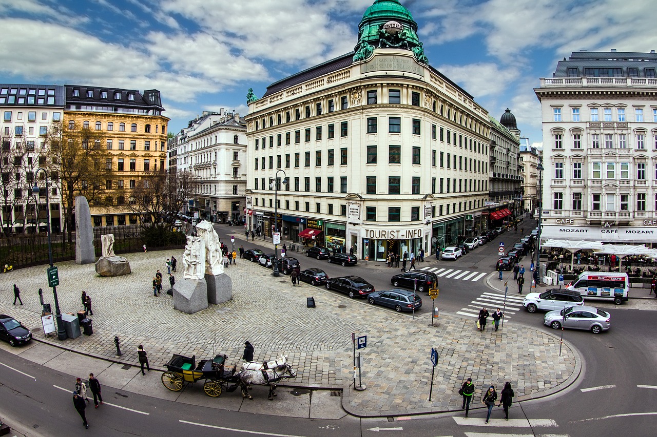
M 656 70 L 654 51 L 579 51 L 541 79 L 542 238 L 655 241 Z

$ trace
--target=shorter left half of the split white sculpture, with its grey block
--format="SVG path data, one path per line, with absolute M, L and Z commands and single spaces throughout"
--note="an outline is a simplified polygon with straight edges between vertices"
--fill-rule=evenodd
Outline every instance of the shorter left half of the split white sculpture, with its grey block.
M 205 241 L 187 236 L 183 254 L 183 279 L 173 285 L 173 308 L 187 314 L 208 308 L 208 283 L 204 278 Z

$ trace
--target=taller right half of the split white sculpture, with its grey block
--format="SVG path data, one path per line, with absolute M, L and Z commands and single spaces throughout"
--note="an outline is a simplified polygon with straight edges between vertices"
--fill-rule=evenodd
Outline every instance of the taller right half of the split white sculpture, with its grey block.
M 219 236 L 212 222 L 203 220 L 196 225 L 196 234 L 205 241 L 206 265 L 205 280 L 208 283 L 208 303 L 219 304 L 233 299 L 233 281 L 223 274 Z

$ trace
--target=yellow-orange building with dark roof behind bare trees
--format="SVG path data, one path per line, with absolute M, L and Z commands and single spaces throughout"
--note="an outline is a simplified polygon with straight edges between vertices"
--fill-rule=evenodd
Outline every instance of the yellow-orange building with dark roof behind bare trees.
M 169 118 L 160 91 L 143 94 L 132 89 L 65 85 L 64 129 L 78 127 L 99 131 L 112 155 L 116 180 L 107 182 L 112 205 L 90 205 L 93 226 L 137 224 L 139 218 L 126 203 L 129 190 L 152 171 L 166 171 L 166 142 Z M 116 196 L 112 196 L 116 190 Z M 148 217 L 145 217 L 148 220 Z

